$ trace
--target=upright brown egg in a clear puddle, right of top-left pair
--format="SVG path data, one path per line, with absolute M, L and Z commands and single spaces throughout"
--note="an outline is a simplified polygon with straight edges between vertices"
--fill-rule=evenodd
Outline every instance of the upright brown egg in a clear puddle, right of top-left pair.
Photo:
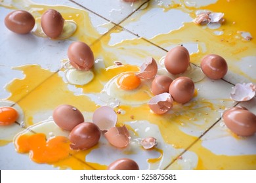
M 47 37 L 56 39 L 63 31 L 64 18 L 62 18 L 60 12 L 49 9 L 41 16 L 41 27 Z

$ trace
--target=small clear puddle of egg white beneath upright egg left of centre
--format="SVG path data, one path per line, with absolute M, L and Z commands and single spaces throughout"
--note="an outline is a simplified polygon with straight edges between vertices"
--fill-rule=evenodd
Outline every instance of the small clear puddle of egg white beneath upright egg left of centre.
M 77 69 L 68 69 L 66 71 L 66 80 L 70 84 L 76 84 L 83 86 L 94 78 L 94 73 L 93 71 L 84 71 L 84 70 L 77 70 Z

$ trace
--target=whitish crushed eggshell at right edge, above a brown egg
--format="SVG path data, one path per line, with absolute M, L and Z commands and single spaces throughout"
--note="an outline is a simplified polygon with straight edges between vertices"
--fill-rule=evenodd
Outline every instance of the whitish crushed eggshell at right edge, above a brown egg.
M 231 99 L 234 101 L 249 101 L 256 93 L 256 85 L 252 83 L 236 84 L 230 93 Z

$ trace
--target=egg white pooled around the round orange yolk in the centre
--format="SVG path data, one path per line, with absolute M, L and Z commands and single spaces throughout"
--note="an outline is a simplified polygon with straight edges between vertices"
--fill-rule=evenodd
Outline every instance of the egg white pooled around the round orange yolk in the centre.
M 134 90 L 123 90 L 119 84 L 117 84 L 117 79 L 123 74 L 124 73 L 121 73 L 109 80 L 105 84 L 102 93 L 106 93 L 112 97 L 112 99 L 118 99 L 120 105 L 142 105 L 148 103 L 149 99 L 153 96 L 150 92 L 152 80 L 141 80 L 138 88 Z

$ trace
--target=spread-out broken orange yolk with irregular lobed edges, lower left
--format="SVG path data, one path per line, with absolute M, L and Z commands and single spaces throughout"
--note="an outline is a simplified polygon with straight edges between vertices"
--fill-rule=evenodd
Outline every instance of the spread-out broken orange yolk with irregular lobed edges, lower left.
M 15 141 L 17 152 L 30 152 L 30 158 L 37 163 L 53 163 L 70 155 L 70 141 L 63 136 L 46 139 L 45 134 L 20 135 Z

